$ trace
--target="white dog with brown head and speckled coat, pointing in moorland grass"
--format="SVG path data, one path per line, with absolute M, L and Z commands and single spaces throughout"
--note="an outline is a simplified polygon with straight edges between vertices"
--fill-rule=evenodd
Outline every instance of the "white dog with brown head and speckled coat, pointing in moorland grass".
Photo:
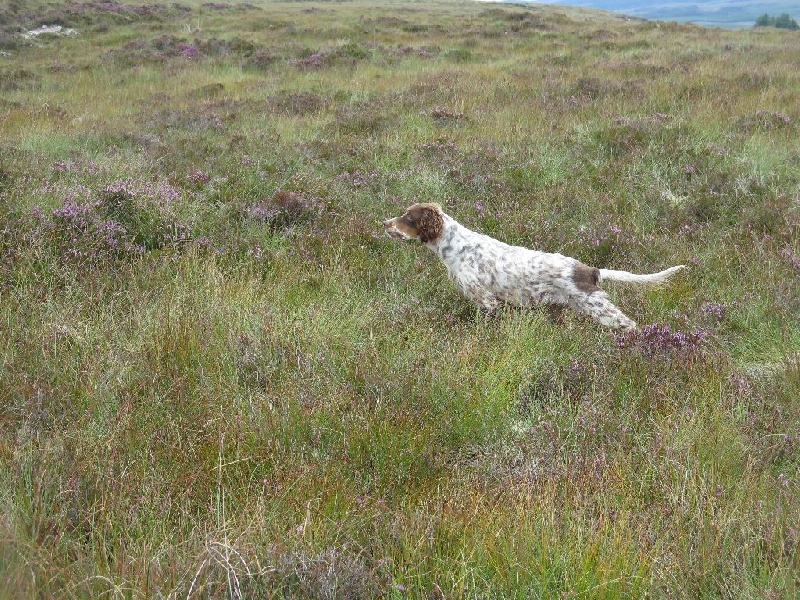
M 467 229 L 432 203 L 414 204 L 403 215 L 384 221 L 383 227 L 394 239 L 418 240 L 433 250 L 458 289 L 488 312 L 504 304 L 569 306 L 607 327 L 634 329 L 636 323 L 598 284 L 604 279 L 660 283 L 684 268 L 637 275 L 588 267 L 563 254 L 510 246 Z

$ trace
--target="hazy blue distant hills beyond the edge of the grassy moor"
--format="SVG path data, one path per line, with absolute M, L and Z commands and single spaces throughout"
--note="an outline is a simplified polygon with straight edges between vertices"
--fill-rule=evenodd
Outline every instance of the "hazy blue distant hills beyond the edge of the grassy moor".
M 524 0 L 523 0 L 524 1 Z M 800 2 L 752 0 L 547 0 L 548 4 L 591 6 L 645 19 L 697 23 L 710 27 L 752 27 L 764 13 L 800 18 Z

